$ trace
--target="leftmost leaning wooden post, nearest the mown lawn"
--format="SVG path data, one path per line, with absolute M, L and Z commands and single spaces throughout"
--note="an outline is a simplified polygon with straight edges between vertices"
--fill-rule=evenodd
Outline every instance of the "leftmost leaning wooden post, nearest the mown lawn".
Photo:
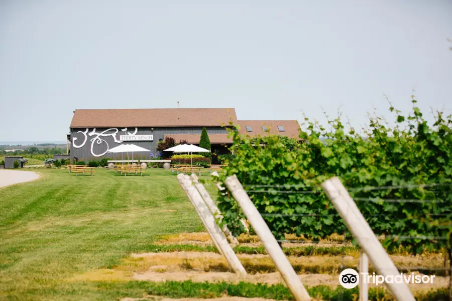
M 188 198 L 190 199 L 191 203 L 195 207 L 196 212 L 199 215 L 199 218 L 204 224 L 205 229 L 212 238 L 212 241 L 215 244 L 218 251 L 226 258 L 226 260 L 228 260 L 228 263 L 234 270 L 234 272 L 242 276 L 245 276 L 247 274 L 247 271 L 243 267 L 236 253 L 234 253 L 233 248 L 228 243 L 228 240 L 224 236 L 223 232 L 221 232 L 221 229 L 216 224 L 215 218 L 213 217 L 210 210 L 207 208 L 207 205 L 202 200 L 201 195 L 192 185 L 190 177 L 181 173 L 177 175 L 177 180 L 179 181 L 180 185 L 188 195 Z

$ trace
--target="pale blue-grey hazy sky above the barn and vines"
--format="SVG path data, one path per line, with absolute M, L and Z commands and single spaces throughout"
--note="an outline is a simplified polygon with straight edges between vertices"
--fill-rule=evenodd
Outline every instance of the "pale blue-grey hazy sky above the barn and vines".
M 0 141 L 66 139 L 75 109 L 235 107 L 355 127 L 415 91 L 452 112 L 451 1 L 0 0 Z

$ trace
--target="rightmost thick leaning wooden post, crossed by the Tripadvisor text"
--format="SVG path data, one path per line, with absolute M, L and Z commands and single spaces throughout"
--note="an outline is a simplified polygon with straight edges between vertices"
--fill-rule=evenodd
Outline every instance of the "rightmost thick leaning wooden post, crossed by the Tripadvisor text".
M 342 217 L 347 228 L 358 241 L 362 250 L 369 256 L 378 273 L 386 276 L 400 275 L 385 249 L 378 241 L 361 211 L 356 206 L 347 189 L 339 178 L 334 177 L 322 183 L 323 191 L 331 200 L 337 213 Z M 360 275 L 361 276 L 361 275 Z M 398 301 L 415 301 L 406 283 L 385 283 Z

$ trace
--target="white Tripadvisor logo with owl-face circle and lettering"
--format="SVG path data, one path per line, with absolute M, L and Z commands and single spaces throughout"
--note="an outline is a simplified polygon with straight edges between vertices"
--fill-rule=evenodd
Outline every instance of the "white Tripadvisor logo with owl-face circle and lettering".
M 346 268 L 339 275 L 339 283 L 345 288 L 354 288 L 360 283 L 360 276 L 363 278 L 364 283 L 374 283 L 376 285 L 403 282 L 412 284 L 433 283 L 433 278 L 435 277 L 435 275 L 415 275 L 414 273 L 400 273 L 398 275 L 387 275 L 386 277 L 375 273 L 371 275 L 369 273 L 361 273 L 360 275 L 353 268 Z

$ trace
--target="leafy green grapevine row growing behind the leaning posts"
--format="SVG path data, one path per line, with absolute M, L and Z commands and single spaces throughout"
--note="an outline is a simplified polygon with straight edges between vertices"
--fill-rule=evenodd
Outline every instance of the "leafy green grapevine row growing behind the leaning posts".
M 388 249 L 411 245 L 413 253 L 446 247 L 452 224 L 452 118 L 437 112 L 429 127 L 415 106 L 407 117 L 396 112 L 391 128 L 380 117 L 371 118 L 363 136 L 353 128 L 346 133 L 340 117 L 329 121 L 332 129 L 310 122 L 300 137 L 305 143 L 292 150 L 276 136 L 260 137 L 264 147 L 231 131 L 236 158 L 223 169 L 219 182 L 237 175 L 261 213 L 294 216 L 264 217 L 276 238 L 284 233 L 325 237 L 347 229 L 319 184 L 338 176 L 377 235 L 443 237 L 442 240 L 386 239 Z M 394 111 L 394 108 L 390 108 Z M 403 117 L 403 118 L 401 118 Z M 320 137 L 326 137 L 324 143 Z M 363 190 L 363 187 L 420 185 L 426 187 Z M 433 185 L 432 187 L 428 185 Z M 273 188 L 272 188 L 273 186 Z M 274 187 L 278 187 L 275 189 Z M 253 192 L 253 190 L 255 192 Z M 277 191 L 287 191 L 280 193 Z M 262 191 L 262 192 L 259 192 Z M 435 202 L 385 202 L 383 200 L 435 200 Z M 242 213 L 230 194 L 218 193 L 218 208 L 234 234 L 243 232 Z

